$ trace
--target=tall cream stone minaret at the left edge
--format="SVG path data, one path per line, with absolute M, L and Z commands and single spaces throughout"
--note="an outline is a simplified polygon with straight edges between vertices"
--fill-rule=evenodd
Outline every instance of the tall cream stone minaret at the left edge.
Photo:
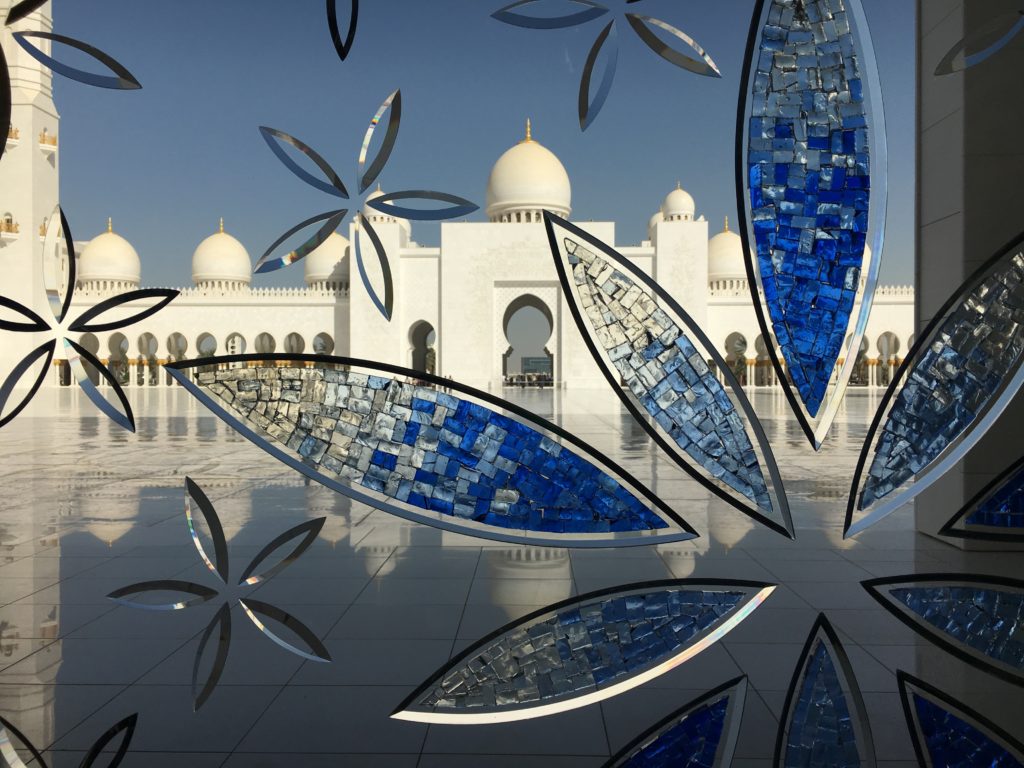
M 7 16 L 13 4 L 14 0 L 0 0 L 0 18 Z M 59 117 L 53 105 L 50 71 L 25 52 L 12 33 L 52 29 L 49 2 L 11 27 L 0 29 L 0 44 L 11 80 L 11 124 L 0 158 L 0 217 L 4 222 L 9 217 L 11 222 L 0 232 L 2 292 L 32 307 L 41 317 L 51 316 L 42 286 L 40 227 L 57 204 Z M 49 53 L 49 41 L 37 38 L 33 42 Z M 16 230 L 11 231 L 15 226 Z M 4 333 L 0 371 L 6 375 L 43 341 L 41 334 Z M 28 383 L 26 379 L 22 385 Z

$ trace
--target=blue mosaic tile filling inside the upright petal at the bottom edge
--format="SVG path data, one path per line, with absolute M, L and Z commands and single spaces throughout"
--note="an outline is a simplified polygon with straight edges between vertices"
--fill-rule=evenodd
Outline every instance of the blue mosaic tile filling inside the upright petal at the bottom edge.
M 785 768 L 859 768 L 860 755 L 836 664 L 818 642 L 790 721 Z

